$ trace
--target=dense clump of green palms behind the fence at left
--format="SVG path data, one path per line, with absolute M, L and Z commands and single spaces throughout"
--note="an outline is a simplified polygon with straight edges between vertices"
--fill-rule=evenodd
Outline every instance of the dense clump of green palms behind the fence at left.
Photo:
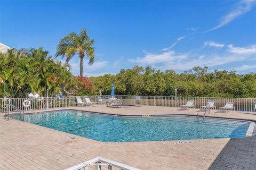
M 67 68 L 41 47 L 0 53 L 0 97 L 26 97 L 30 92 L 46 96 L 46 89 L 54 95 L 73 88 L 74 77 Z

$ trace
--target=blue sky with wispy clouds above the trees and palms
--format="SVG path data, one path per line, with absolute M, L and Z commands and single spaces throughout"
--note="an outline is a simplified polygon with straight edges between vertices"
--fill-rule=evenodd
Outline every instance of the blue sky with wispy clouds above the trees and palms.
M 87 28 L 95 40 L 95 62 L 84 61 L 84 75 L 115 74 L 133 65 L 256 72 L 255 6 L 256 0 L 0 0 L 0 43 L 43 47 L 54 55 L 63 36 Z M 70 65 L 77 75 L 79 58 Z

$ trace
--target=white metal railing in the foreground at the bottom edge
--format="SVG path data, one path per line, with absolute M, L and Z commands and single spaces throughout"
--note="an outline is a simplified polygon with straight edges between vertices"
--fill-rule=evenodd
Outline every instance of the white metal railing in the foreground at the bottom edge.
M 69 168 L 66 168 L 65 170 L 82 170 L 82 169 L 90 170 L 89 169 L 90 166 L 94 166 L 95 170 L 100 170 L 101 166 L 105 166 L 105 165 L 108 166 L 109 170 L 111 170 L 112 167 L 115 167 L 121 170 L 140 170 L 138 168 L 125 165 L 125 164 L 116 162 L 115 160 L 103 158 L 100 156 L 87 160 L 83 163 L 71 166 Z

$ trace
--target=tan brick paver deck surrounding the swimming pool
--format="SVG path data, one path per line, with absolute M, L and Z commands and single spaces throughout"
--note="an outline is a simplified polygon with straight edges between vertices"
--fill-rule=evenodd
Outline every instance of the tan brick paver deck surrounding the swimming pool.
M 108 108 L 102 105 L 72 109 L 124 115 L 204 114 L 154 106 Z M 211 116 L 256 120 L 256 115 L 237 112 L 211 112 Z M 141 169 L 256 169 L 255 137 L 186 141 L 192 143 L 99 142 L 18 120 L 6 121 L 1 116 L 0 169 L 63 169 L 95 156 Z

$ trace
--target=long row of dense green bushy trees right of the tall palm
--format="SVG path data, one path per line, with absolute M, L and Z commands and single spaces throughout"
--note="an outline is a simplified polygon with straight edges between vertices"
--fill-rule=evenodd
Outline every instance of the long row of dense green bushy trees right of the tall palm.
M 177 89 L 178 96 L 256 97 L 256 73 L 210 72 L 207 66 L 196 66 L 182 73 L 133 66 L 132 69 L 121 69 L 116 75 L 105 74 L 91 79 L 96 91 L 101 89 L 103 95 L 110 95 L 111 82 L 114 82 L 118 95 L 174 96 Z

